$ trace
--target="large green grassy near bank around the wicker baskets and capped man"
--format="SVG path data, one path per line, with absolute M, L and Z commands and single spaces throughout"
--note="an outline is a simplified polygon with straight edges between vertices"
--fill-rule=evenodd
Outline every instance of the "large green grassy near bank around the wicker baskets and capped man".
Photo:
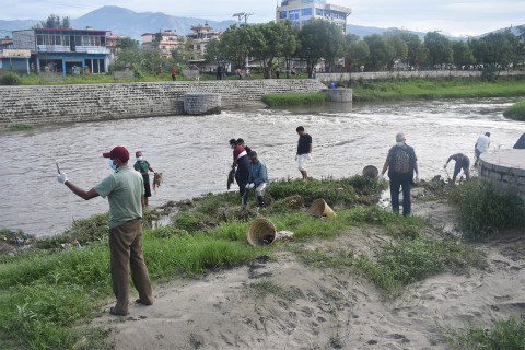
M 376 207 L 382 189 L 375 179 L 362 176 L 307 184 L 283 179 L 268 187 L 265 211 L 255 208 L 254 196 L 248 209 L 241 211 L 235 192 L 166 203 L 147 215 L 154 219 L 172 213 L 168 225 L 144 230 L 150 277 L 156 282 L 195 278 L 289 249 L 307 264 L 361 275 L 385 296 L 395 298 L 404 285 L 440 271 L 485 266 L 485 256 L 471 246 L 423 235 L 423 231 L 438 232 L 428 221 Z M 318 197 L 337 210 L 337 217 L 320 220 L 307 213 Z M 246 230 L 252 219 L 259 217 L 270 219 L 277 231 L 292 231 L 298 246 L 311 240 L 332 240 L 349 228 L 374 226 L 393 241 L 370 254 L 341 247 L 310 252 L 285 244 L 255 248 L 246 242 Z M 0 348 L 103 347 L 105 329 L 80 325 L 103 313 L 102 306 L 112 298 L 107 220 L 107 214 L 100 214 L 78 221 L 63 235 L 0 256 Z M 60 243 L 72 240 L 82 248 L 61 247 Z

